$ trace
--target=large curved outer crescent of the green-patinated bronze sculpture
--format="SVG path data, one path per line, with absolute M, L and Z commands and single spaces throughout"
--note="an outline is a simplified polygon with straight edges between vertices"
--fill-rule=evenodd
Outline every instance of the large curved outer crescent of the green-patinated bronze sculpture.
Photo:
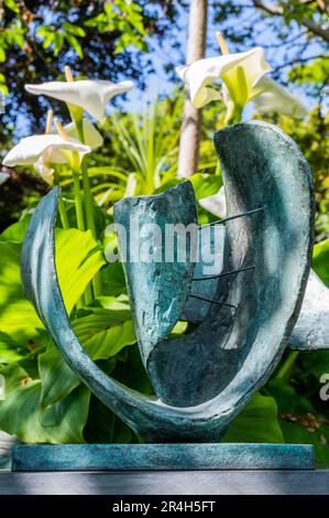
M 228 215 L 264 207 L 254 217 L 227 225 L 223 268 L 254 265 L 255 271 L 248 279 L 226 279 L 218 287 L 216 298 L 237 306 L 234 317 L 230 309 L 212 304 L 191 334 L 157 344 L 149 342 L 145 347 L 140 341 L 141 349 L 150 352 L 146 367 L 160 400 L 108 377 L 74 334 L 55 266 L 57 188 L 37 206 L 23 246 L 26 295 L 58 350 L 90 390 L 145 442 L 220 440 L 277 365 L 297 321 L 309 273 L 314 198 L 309 170 L 296 144 L 265 123 L 230 127 L 218 132 L 215 142 Z M 184 185 L 176 187 L 177 207 L 185 199 Z M 169 196 L 173 192 L 161 199 Z M 172 220 L 171 213 L 167 220 Z M 182 284 L 188 281 L 186 269 L 175 270 L 175 274 L 182 274 Z M 185 302 L 186 293 L 179 295 L 182 313 Z M 143 298 L 132 303 L 141 304 L 143 311 L 150 301 Z M 152 304 L 156 304 L 155 299 Z M 133 311 L 136 315 L 140 310 Z

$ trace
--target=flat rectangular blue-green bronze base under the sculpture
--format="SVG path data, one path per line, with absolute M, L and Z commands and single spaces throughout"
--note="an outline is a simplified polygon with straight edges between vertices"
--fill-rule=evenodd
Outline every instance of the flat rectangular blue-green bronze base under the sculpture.
M 128 470 L 312 470 L 309 444 L 18 445 L 15 472 Z

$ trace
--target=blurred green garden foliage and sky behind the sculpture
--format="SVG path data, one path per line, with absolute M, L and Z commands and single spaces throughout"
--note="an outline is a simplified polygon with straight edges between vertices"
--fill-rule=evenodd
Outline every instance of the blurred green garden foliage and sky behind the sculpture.
M 31 129 L 43 131 L 47 101 L 28 98 L 24 83 L 61 79 L 65 64 L 81 77 L 133 78 L 141 89 L 146 88 L 149 98 L 152 71 L 160 85 L 174 82 L 174 66 L 184 62 L 182 34 L 188 7 L 183 0 L 0 0 L 0 89 L 7 96 L 6 114 L 0 116 L 0 154 Z M 256 0 L 209 1 L 208 13 L 210 46 L 215 28 L 221 29 L 232 51 L 264 46 L 274 76 L 308 102 L 309 116 L 303 121 L 278 114 L 267 114 L 266 120 L 296 140 L 312 169 L 314 268 L 329 285 L 328 2 L 278 0 L 268 7 Z M 103 229 L 112 222 L 116 201 L 127 194 L 158 192 L 177 181 L 183 95 L 178 86 L 169 94 L 158 90 L 160 98 L 145 101 L 144 108 L 121 104 L 100 129 L 103 148 L 88 159 L 98 241 L 76 229 L 57 230 L 59 280 L 65 279 L 61 285 L 78 337 L 107 373 L 145 392 L 151 387 L 135 345 L 122 269 L 105 266 L 102 251 L 110 239 Z M 56 110 L 67 117 L 59 104 Z M 220 104 L 204 110 L 200 162 L 191 179 L 197 198 L 220 185 L 211 137 L 222 123 Z M 25 168 L 2 166 L 1 172 L 10 179 L 0 186 L 0 371 L 9 380 L 0 429 L 26 442 L 136 441 L 65 365 L 24 299 L 20 248 L 31 211 L 48 187 Z M 70 177 L 62 171 L 61 180 L 74 225 Z M 199 218 L 207 222 L 211 216 L 200 209 Z M 77 310 L 77 301 L 99 270 L 102 296 Z M 329 407 L 319 398 L 323 373 L 329 373 L 329 352 L 287 353 L 226 440 L 312 443 L 318 464 L 328 466 Z

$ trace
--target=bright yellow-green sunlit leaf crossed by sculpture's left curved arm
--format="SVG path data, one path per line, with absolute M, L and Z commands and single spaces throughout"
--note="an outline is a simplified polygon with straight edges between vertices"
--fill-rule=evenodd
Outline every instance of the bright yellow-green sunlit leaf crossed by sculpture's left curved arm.
M 20 227 L 12 233 L 20 235 Z M 25 299 L 20 274 L 21 245 L 0 241 L 0 331 L 21 346 L 43 328 L 36 312 Z M 90 231 L 56 231 L 56 265 L 67 312 L 70 313 L 86 287 L 103 265 Z

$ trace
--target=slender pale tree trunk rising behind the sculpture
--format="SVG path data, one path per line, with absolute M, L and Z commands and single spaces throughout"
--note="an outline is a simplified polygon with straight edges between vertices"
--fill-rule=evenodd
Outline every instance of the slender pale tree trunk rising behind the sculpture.
M 190 0 L 186 61 L 205 56 L 208 0 Z M 179 141 L 178 177 L 189 177 L 198 169 L 202 110 L 194 108 L 188 98 L 184 105 Z

